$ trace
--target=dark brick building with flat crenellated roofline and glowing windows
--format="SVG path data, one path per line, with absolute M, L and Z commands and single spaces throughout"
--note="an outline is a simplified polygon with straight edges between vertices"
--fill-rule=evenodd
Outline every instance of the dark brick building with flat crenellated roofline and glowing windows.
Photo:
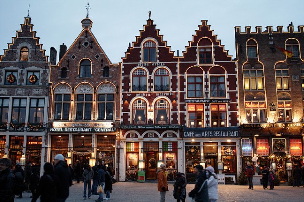
M 257 156 L 257 171 L 273 166 L 281 180 L 303 165 L 303 31 L 235 27 L 242 165 Z

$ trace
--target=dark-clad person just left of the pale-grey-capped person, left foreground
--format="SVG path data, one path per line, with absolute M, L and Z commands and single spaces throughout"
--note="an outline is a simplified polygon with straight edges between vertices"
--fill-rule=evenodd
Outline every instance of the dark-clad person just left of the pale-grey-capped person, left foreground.
M 39 197 L 41 202 L 56 201 L 56 190 L 60 187 L 59 178 L 55 175 L 54 168 L 51 163 L 46 162 L 43 165 L 43 170 L 43 176 L 41 176 L 39 180 L 31 202 L 36 202 Z

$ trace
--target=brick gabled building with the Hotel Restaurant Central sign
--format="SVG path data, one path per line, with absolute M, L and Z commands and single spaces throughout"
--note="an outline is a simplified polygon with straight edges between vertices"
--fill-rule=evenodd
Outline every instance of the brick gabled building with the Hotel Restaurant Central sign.
M 50 68 L 48 161 L 57 153 L 68 163 L 96 160 L 115 165 L 120 120 L 120 68 L 112 64 L 91 31 L 88 16 L 82 31 L 60 61 Z

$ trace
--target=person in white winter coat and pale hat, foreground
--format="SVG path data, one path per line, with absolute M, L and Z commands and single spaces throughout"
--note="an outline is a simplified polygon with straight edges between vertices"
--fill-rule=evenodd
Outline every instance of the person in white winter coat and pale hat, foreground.
M 217 175 L 214 172 L 212 166 L 207 166 L 206 168 L 206 178 L 208 185 L 208 196 L 209 202 L 216 202 L 218 200 L 218 191 L 217 191 Z

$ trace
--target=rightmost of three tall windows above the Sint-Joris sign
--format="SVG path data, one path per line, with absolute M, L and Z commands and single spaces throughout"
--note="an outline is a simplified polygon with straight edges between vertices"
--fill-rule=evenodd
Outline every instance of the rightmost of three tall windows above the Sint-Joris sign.
M 44 114 L 44 102 L 45 100 L 38 98 L 30 99 L 30 108 L 29 108 L 29 123 L 42 123 L 43 114 Z

